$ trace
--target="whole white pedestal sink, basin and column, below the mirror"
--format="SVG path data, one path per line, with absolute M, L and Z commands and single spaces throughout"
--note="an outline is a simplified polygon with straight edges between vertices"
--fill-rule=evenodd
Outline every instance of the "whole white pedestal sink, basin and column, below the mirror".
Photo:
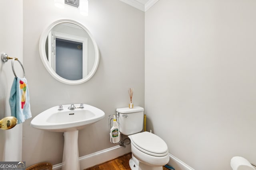
M 80 170 L 78 154 L 78 130 L 104 118 L 104 111 L 90 106 L 75 104 L 75 109 L 68 109 L 70 105 L 54 106 L 38 114 L 31 121 L 36 129 L 63 132 L 64 150 L 62 170 Z

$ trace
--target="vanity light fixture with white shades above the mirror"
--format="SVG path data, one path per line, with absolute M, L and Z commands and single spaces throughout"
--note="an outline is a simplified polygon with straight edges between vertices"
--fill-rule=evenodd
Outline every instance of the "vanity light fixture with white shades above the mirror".
M 54 0 L 54 5 L 62 9 L 65 4 L 74 6 L 79 8 L 81 15 L 88 16 L 88 1 L 89 0 Z

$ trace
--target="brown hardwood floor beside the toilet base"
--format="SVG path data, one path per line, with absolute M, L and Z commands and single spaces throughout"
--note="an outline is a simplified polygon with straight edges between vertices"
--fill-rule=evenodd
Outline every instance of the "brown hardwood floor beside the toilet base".
M 110 160 L 108 162 L 104 162 L 102 164 L 93 166 L 91 168 L 87 168 L 85 170 L 131 170 L 129 166 L 129 160 L 132 158 L 132 154 L 125 154 L 120 156 L 114 160 Z M 163 170 L 168 170 L 163 167 Z

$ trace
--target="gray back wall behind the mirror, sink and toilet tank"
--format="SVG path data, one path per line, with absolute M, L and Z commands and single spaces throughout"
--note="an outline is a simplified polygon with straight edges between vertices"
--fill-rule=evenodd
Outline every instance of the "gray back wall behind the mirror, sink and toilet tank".
M 109 142 L 108 115 L 128 107 L 128 88 L 134 88 L 134 105 L 144 107 L 144 12 L 119 0 L 89 1 L 89 16 L 75 8 L 54 6 L 53 0 L 24 0 L 24 67 L 29 82 L 32 116 L 59 104 L 84 103 L 96 106 L 106 117 L 79 131 L 79 154 L 84 156 L 114 145 Z M 38 50 L 40 35 L 57 19 L 84 24 L 100 50 L 94 76 L 80 85 L 58 82 L 44 68 Z M 22 159 L 26 165 L 62 162 L 63 133 L 41 131 L 23 124 Z

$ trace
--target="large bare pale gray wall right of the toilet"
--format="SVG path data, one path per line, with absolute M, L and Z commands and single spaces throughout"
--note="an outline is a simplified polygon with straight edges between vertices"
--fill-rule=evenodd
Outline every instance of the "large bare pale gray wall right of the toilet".
M 256 1 L 159 0 L 145 14 L 148 130 L 195 170 L 256 162 Z

